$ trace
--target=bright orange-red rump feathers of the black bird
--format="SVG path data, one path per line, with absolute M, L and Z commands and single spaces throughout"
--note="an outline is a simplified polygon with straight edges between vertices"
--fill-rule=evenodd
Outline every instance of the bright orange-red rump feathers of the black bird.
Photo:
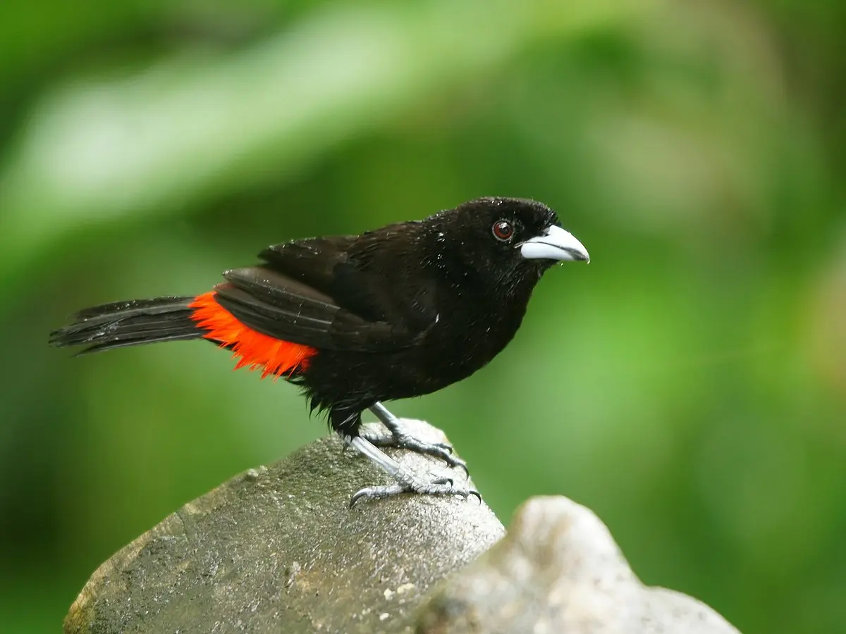
M 195 298 L 189 304 L 194 309 L 191 319 L 206 331 L 204 338 L 220 342 L 221 347 L 232 347 L 233 358 L 239 358 L 235 369 L 262 368 L 264 379 L 268 374 L 291 376 L 308 368 L 309 358 L 317 353 L 315 348 L 254 331 L 217 303 L 214 296 L 211 291 Z

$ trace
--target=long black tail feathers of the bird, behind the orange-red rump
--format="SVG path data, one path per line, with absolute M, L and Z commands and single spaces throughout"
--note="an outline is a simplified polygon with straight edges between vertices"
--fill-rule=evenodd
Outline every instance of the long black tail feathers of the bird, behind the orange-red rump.
M 191 319 L 195 298 L 133 299 L 106 303 L 74 314 L 74 323 L 50 333 L 57 347 L 85 346 L 80 354 L 142 343 L 200 339 L 206 331 Z

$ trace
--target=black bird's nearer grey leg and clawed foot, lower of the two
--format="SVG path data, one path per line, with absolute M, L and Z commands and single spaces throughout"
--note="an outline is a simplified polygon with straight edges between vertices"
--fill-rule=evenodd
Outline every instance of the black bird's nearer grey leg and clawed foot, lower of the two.
M 352 499 L 349 500 L 349 507 L 352 508 L 359 500 L 379 500 L 391 495 L 399 493 L 421 493 L 424 495 L 460 495 L 465 500 L 470 495 L 475 495 L 481 502 L 481 495 L 479 491 L 470 489 L 467 486 L 456 486 L 452 478 L 435 478 L 433 480 L 425 480 L 420 478 L 404 468 L 391 456 L 387 456 L 384 451 L 381 451 L 376 445 L 373 445 L 370 440 L 362 436 L 355 436 L 350 438 L 344 436 L 344 442 L 348 445 L 354 446 L 358 451 L 370 458 L 371 462 L 380 467 L 385 473 L 388 473 L 393 478 L 396 478 L 397 484 L 388 484 L 387 486 L 366 487 L 360 491 L 356 491 Z

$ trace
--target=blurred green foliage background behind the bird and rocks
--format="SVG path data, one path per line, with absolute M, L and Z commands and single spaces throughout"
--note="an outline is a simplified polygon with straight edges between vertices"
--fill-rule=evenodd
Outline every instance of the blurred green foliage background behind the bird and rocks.
M 0 630 L 324 432 L 203 342 L 70 358 L 85 305 L 484 194 L 591 251 L 395 404 L 508 523 L 564 494 L 743 631 L 846 623 L 846 4 L 0 3 Z

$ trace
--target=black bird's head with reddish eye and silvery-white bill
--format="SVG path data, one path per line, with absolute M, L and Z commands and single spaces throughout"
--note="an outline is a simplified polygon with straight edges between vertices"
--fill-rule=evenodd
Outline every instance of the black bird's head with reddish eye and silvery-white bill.
M 585 245 L 561 227 L 555 211 L 536 200 L 480 198 L 432 216 L 438 264 L 475 271 L 499 284 L 534 284 L 563 261 L 589 262 Z

